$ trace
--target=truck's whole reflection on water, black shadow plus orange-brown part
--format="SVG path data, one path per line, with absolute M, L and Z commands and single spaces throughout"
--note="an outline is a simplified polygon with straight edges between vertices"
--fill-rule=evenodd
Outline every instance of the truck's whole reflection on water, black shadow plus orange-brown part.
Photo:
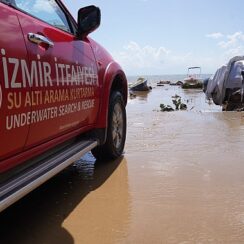
M 126 160 L 87 154 L 0 215 L 0 243 L 114 243 L 129 215 Z

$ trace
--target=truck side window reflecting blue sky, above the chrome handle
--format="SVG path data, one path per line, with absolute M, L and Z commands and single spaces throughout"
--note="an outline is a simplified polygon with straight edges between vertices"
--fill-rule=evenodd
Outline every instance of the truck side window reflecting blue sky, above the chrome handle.
M 55 0 L 15 0 L 15 5 L 50 25 L 71 32 L 67 18 Z

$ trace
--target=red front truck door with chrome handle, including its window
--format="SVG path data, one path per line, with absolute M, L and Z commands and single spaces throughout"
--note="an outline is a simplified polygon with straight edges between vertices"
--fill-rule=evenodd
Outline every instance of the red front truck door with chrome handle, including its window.
M 55 0 L 15 0 L 29 54 L 31 126 L 27 147 L 95 123 L 97 65 L 88 41 Z

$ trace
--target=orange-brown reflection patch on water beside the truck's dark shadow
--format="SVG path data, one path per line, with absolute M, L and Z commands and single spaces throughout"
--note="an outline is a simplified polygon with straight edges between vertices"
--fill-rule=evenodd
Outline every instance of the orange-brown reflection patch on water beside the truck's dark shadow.
M 102 187 L 92 184 L 92 192 L 64 221 L 64 228 L 72 233 L 76 243 L 116 243 L 127 235 L 130 193 L 126 164 L 123 159 Z M 109 165 L 102 168 L 106 166 Z M 104 177 L 100 167 L 96 169 L 96 179 Z

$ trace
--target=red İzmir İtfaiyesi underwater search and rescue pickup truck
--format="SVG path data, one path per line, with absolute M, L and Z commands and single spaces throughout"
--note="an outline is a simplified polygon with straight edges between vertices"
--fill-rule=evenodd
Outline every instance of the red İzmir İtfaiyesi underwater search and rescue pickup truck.
M 126 139 L 127 79 L 61 0 L 0 0 L 0 211 L 84 153 L 115 159 Z

